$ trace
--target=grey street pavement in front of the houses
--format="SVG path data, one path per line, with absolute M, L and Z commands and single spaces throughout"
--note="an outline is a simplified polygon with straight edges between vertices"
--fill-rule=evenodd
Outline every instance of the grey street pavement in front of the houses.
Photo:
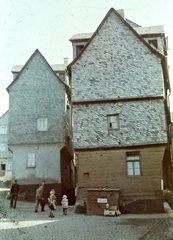
M 105 217 L 75 213 L 68 215 L 57 206 L 55 217 L 34 212 L 35 204 L 18 201 L 10 208 L 5 198 L 8 189 L 0 189 L 0 240 L 173 240 L 173 220 L 167 213 L 122 214 Z

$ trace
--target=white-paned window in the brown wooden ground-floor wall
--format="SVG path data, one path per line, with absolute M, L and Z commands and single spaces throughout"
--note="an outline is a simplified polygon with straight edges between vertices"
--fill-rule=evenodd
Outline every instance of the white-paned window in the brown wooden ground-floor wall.
M 140 159 L 139 152 L 127 153 L 127 175 L 128 176 L 140 176 Z

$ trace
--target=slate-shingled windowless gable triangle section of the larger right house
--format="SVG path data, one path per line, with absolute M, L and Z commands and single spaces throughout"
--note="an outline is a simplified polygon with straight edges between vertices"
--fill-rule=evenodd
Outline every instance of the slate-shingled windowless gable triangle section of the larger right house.
M 112 13 L 72 66 L 73 101 L 163 94 L 160 58 Z

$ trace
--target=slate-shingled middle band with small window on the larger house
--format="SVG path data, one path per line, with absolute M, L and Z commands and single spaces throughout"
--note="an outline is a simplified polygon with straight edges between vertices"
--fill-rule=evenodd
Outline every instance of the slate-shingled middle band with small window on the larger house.
M 167 142 L 162 100 L 74 105 L 73 114 L 75 148 Z M 120 129 L 108 130 L 109 114 L 119 114 Z

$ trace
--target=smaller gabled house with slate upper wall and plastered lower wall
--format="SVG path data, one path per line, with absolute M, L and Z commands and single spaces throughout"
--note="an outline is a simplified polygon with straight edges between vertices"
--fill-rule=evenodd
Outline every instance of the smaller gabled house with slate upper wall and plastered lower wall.
M 47 194 L 54 188 L 60 201 L 64 193 L 71 197 L 75 182 L 70 88 L 54 68 L 39 50 L 22 69 L 13 68 L 14 80 L 7 88 L 8 145 L 13 152 L 13 179 L 18 179 L 20 189 L 29 190 L 34 199 L 35 189 L 45 180 Z

